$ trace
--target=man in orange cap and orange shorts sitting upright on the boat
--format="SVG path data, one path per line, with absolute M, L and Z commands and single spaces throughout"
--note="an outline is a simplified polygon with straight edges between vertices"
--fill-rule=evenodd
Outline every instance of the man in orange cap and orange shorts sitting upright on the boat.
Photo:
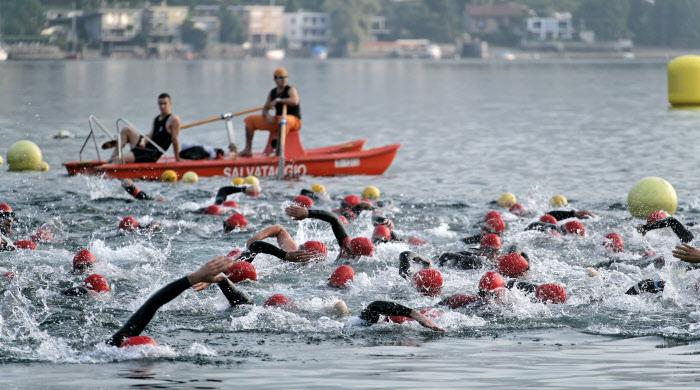
M 301 106 L 299 105 L 299 92 L 297 89 L 287 84 L 287 70 L 277 68 L 274 73 L 274 80 L 277 86 L 267 95 L 262 115 L 249 115 L 245 118 L 245 149 L 238 155 L 249 157 L 253 154 L 253 135 L 256 130 L 270 132 L 270 140 L 263 152 L 266 155 L 273 154 L 275 148 L 273 141 L 279 136 L 280 119 L 282 117 L 282 106 L 287 105 L 287 133 L 299 131 L 301 129 Z M 270 110 L 275 109 L 275 115 L 270 115 Z

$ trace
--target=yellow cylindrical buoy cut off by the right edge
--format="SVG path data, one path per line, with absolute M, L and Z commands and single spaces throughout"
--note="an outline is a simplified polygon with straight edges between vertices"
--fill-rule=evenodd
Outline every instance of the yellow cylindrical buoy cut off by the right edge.
M 668 102 L 673 107 L 700 106 L 700 56 L 680 56 L 668 63 Z

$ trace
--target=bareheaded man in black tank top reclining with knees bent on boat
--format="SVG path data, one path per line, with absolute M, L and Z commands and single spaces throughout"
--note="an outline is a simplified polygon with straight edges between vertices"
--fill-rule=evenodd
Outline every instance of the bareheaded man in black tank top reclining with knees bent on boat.
M 168 150 L 172 144 L 175 160 L 180 161 L 180 140 L 178 138 L 180 135 L 180 118 L 173 114 L 170 95 L 167 93 L 158 95 L 158 109 L 160 110 L 160 115 L 153 120 L 153 128 L 148 138 L 164 151 Z M 131 152 L 122 154 L 122 164 L 156 162 L 163 155 L 153 143 L 148 142 L 135 129 L 125 127 L 121 130 L 119 136 L 121 137 L 122 147 L 127 144 L 131 145 Z M 113 140 L 103 144 L 102 148 L 115 148 L 109 161 L 120 163 L 117 157 L 118 151 L 116 146 L 117 141 Z

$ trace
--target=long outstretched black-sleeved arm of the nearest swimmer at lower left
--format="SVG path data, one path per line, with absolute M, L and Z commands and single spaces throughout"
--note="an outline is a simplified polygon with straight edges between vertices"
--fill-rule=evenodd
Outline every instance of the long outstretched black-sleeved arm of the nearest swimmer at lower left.
M 199 283 L 225 282 L 226 276 L 223 272 L 226 271 L 230 263 L 231 260 L 226 257 L 215 257 L 213 260 L 202 265 L 197 271 L 175 280 L 156 291 L 155 294 L 148 298 L 148 300 L 131 315 L 124 326 L 107 340 L 107 344 L 120 346 L 125 339 L 141 334 L 148 323 L 151 322 L 158 309 L 175 299 L 191 286 Z M 226 295 L 226 292 L 224 295 Z M 228 295 L 227 298 L 229 298 Z M 235 293 L 231 295 L 229 301 L 231 299 L 245 300 L 245 298 L 241 296 L 236 296 Z

